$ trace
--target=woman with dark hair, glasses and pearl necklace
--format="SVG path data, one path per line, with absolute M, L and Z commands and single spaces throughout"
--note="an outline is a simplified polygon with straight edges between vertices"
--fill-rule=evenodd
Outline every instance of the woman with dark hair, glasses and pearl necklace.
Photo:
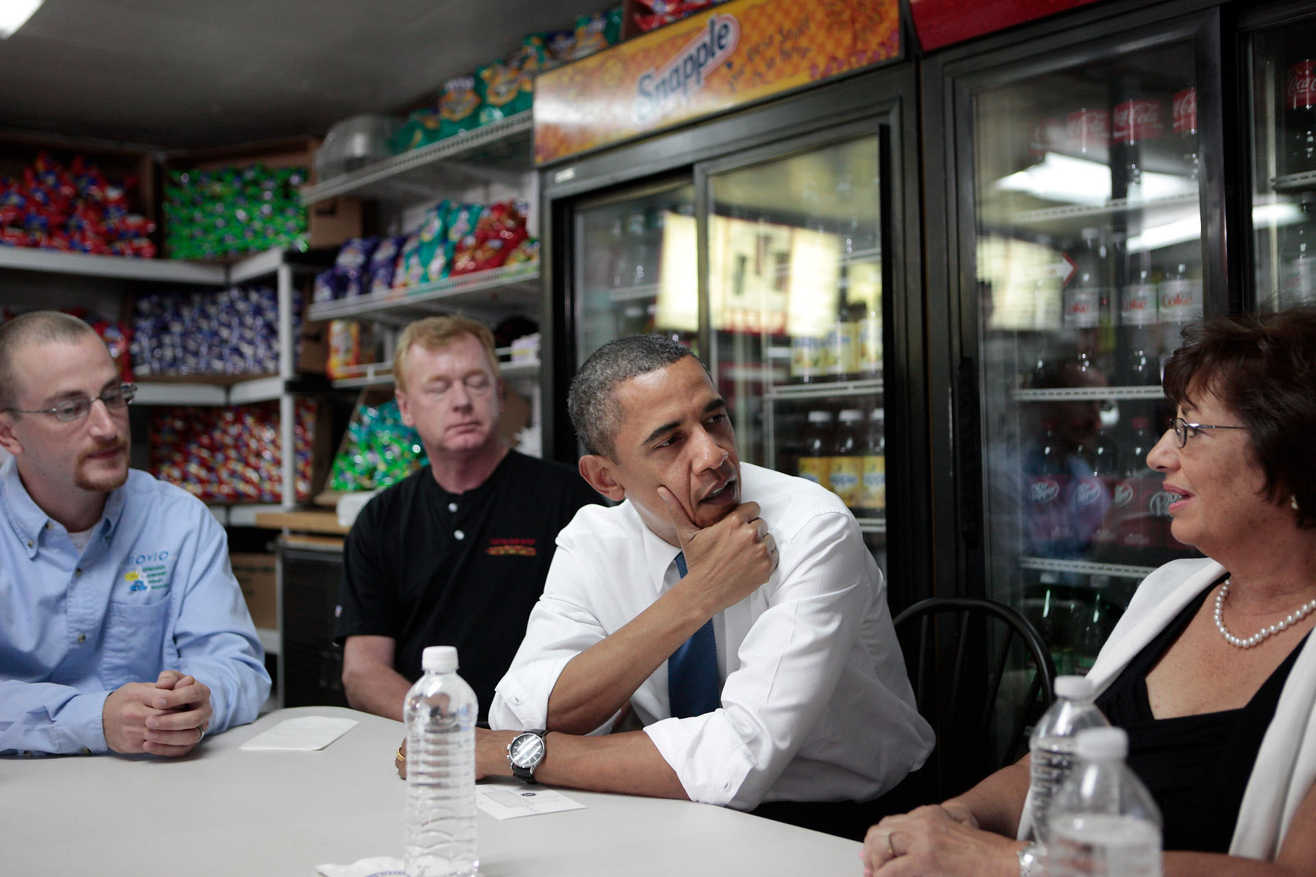
M 1090 678 L 1129 735 L 1173 874 L 1316 874 L 1316 309 L 1184 331 L 1148 454 L 1203 559 L 1148 576 Z M 866 874 L 1041 873 L 1029 760 L 869 830 Z

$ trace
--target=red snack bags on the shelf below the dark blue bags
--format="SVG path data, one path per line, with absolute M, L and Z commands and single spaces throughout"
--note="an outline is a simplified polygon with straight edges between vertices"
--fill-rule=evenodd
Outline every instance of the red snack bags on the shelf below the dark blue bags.
M 311 496 L 317 406 L 299 398 L 293 448 L 297 501 Z M 205 502 L 282 502 L 279 404 L 154 408 L 150 471 Z

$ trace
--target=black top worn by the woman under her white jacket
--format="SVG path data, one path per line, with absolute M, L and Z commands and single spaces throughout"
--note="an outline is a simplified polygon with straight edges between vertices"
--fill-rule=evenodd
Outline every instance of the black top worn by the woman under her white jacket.
M 1304 636 L 1294 646 L 1246 706 L 1203 715 L 1154 718 L 1146 676 L 1220 581 L 1224 577 L 1184 606 L 1096 699 L 1111 724 L 1129 734 L 1128 765 L 1161 807 L 1162 848 L 1166 851 L 1229 851 L 1261 739 L 1305 642 Z

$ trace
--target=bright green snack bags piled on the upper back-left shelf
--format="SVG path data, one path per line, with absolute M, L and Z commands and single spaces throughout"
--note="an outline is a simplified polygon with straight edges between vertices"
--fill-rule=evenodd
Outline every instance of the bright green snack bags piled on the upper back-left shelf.
M 174 259 L 218 259 L 272 247 L 307 249 L 297 188 L 307 168 L 263 164 L 170 171 L 164 243 Z

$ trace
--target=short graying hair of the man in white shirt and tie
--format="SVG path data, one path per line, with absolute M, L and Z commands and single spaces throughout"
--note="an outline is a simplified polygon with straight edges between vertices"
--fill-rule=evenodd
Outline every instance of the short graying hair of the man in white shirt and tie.
M 621 429 L 617 387 L 632 377 L 667 368 L 694 355 L 690 347 L 666 335 L 628 335 L 609 341 L 590 354 L 590 359 L 584 360 L 580 371 L 571 379 L 571 391 L 567 393 L 571 426 L 584 444 L 586 454 L 615 459 L 615 442 Z

